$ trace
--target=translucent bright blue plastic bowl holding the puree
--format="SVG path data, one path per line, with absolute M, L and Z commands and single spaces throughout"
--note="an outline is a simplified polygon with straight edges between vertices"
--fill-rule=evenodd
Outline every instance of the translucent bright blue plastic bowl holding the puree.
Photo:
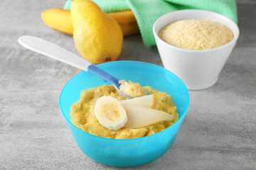
M 68 81 L 60 94 L 60 111 L 78 147 L 88 157 L 110 166 L 138 166 L 160 157 L 174 143 L 178 129 L 188 111 L 189 95 L 185 84 L 163 67 L 146 62 L 107 62 L 98 64 L 97 67 L 118 79 L 139 82 L 142 86 L 151 86 L 158 91 L 167 92 L 177 106 L 179 119 L 166 130 L 147 137 L 114 140 L 90 135 L 70 122 L 70 106 L 79 101 L 81 91 L 108 83 L 89 72 L 82 71 Z

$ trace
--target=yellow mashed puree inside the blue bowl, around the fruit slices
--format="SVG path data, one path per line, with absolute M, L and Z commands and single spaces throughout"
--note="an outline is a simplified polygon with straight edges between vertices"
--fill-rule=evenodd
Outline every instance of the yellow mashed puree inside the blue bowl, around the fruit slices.
M 87 91 L 82 91 L 80 101 L 73 104 L 70 108 L 71 123 L 77 128 L 99 137 L 107 137 L 112 139 L 131 139 L 137 137 L 145 137 L 161 132 L 178 120 L 176 106 L 171 102 L 171 96 L 161 91 L 155 91 L 149 86 L 144 87 L 150 94 L 154 94 L 154 102 L 151 108 L 159 111 L 170 113 L 174 116 L 174 120 L 164 120 L 143 128 L 121 128 L 119 130 L 109 130 L 103 127 L 94 114 L 94 106 L 97 98 L 102 96 L 112 96 L 122 101 L 127 99 L 118 93 L 114 86 L 98 86 Z

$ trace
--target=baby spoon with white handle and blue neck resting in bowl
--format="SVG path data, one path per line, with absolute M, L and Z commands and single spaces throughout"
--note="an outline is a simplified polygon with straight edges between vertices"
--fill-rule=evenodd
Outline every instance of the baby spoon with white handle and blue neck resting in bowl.
M 28 50 L 38 52 L 41 55 L 45 55 L 60 62 L 70 64 L 73 67 L 77 67 L 78 69 L 82 69 L 86 72 L 95 74 L 96 76 L 112 84 L 114 88 L 117 89 L 117 91 L 123 96 L 132 98 L 119 90 L 119 79 L 112 77 L 110 74 L 96 67 L 94 64 L 87 62 L 87 60 L 82 59 L 82 57 L 78 57 L 78 55 L 75 55 L 68 50 L 65 50 L 63 47 L 59 47 L 52 42 L 48 42 L 47 40 L 29 35 L 23 35 L 18 38 L 18 43 L 23 47 L 26 47 Z M 147 93 L 149 94 L 148 91 Z

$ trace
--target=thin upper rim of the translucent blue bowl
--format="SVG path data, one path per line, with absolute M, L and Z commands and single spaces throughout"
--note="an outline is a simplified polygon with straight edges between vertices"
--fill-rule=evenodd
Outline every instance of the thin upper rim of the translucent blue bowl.
M 173 72 L 170 72 L 168 69 L 164 69 L 164 67 L 160 67 L 156 64 L 151 64 L 149 62 L 138 62 L 138 61 L 129 61 L 129 60 L 122 60 L 122 61 L 113 61 L 113 62 L 128 62 L 128 63 L 143 63 L 143 64 L 149 64 L 153 67 L 158 67 L 159 69 L 162 69 L 164 71 L 167 71 L 169 72 L 170 74 L 172 74 L 174 77 L 176 77 L 176 79 L 178 79 L 178 81 L 181 81 L 181 79 L 179 77 L 176 76 L 176 74 L 174 74 Z M 113 63 L 113 62 L 105 62 L 105 63 L 102 63 L 102 64 L 97 64 L 99 66 L 104 66 L 104 65 L 107 65 L 107 64 L 110 64 L 110 63 Z M 59 97 L 59 108 L 60 108 L 60 112 L 62 113 L 63 117 L 65 118 L 66 122 L 69 123 L 73 128 L 75 128 L 76 130 L 79 130 L 80 132 L 84 133 L 85 135 L 90 135 L 91 137 L 95 137 L 95 138 L 98 138 L 99 140 L 112 140 L 112 141 L 132 141 L 132 140 L 144 140 L 148 137 L 154 137 L 154 136 L 157 136 L 157 135 L 160 135 L 162 132 L 164 132 L 165 130 L 171 128 L 171 126 L 173 125 L 176 125 L 178 122 L 182 121 L 183 118 L 185 117 L 187 111 L 188 111 L 188 106 L 189 106 L 189 103 L 190 103 L 190 97 L 189 97 L 189 94 L 188 94 L 188 89 L 186 88 L 186 85 L 183 83 L 183 81 L 181 81 L 181 84 L 183 85 L 183 87 L 186 89 L 186 96 L 188 96 L 188 104 L 186 106 L 186 109 L 185 111 L 183 112 L 183 115 L 181 117 L 178 118 L 178 120 L 176 121 L 176 123 L 174 123 L 173 125 L 171 125 L 169 128 L 166 128 L 165 130 L 162 130 L 161 132 L 157 132 L 155 133 L 154 135 L 149 135 L 149 136 L 146 136 L 146 137 L 137 137 L 137 138 L 132 138 L 132 139 L 112 139 L 112 138 L 107 138 L 107 137 L 99 137 L 99 136 L 96 136 L 96 135 L 92 135 L 88 132 L 85 132 L 83 130 L 80 130 L 79 128 L 77 128 L 75 125 L 73 125 L 73 123 L 70 122 L 70 120 L 68 120 L 68 118 L 65 117 L 63 111 L 62 111 L 62 108 L 60 106 L 60 98 L 63 94 L 63 91 L 65 90 L 66 86 L 68 86 L 68 84 L 70 84 L 70 81 L 72 79 L 75 79 L 75 77 L 78 77 L 80 74 L 82 74 L 82 72 L 85 72 L 85 71 L 81 71 L 79 72 L 78 74 L 75 74 L 74 77 L 72 77 L 66 84 L 65 86 L 63 87 L 62 91 L 60 92 L 60 97 Z

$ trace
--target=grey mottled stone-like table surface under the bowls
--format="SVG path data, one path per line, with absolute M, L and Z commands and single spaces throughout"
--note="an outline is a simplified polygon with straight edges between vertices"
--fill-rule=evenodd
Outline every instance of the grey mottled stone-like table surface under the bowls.
M 191 103 L 174 145 L 133 169 L 256 169 L 256 1 L 238 2 L 240 38 L 210 89 Z M 78 54 L 73 38 L 48 28 L 41 11 L 64 1 L 1 1 L 0 169 L 119 169 L 78 148 L 58 107 L 60 91 L 80 70 L 18 45 L 36 35 Z M 124 38 L 119 60 L 162 66 L 139 34 Z

